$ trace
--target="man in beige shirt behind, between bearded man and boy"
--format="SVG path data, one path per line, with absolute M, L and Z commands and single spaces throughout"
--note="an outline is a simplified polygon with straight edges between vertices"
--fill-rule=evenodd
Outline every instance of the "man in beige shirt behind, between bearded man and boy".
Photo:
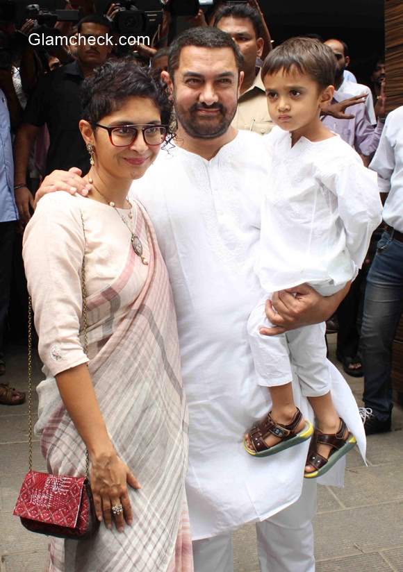
M 214 25 L 231 35 L 244 58 L 244 78 L 233 126 L 260 135 L 269 133 L 273 124 L 268 112 L 261 70 L 256 68 L 256 58 L 261 58 L 264 48 L 260 15 L 247 4 L 224 6 L 217 11 Z

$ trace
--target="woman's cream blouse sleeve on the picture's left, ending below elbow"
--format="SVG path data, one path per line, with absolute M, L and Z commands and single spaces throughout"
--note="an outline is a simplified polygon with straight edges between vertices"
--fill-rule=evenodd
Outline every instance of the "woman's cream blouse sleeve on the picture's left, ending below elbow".
M 44 196 L 26 227 L 23 258 L 39 354 L 52 376 L 88 362 L 79 340 L 84 251 L 78 201 L 64 192 Z

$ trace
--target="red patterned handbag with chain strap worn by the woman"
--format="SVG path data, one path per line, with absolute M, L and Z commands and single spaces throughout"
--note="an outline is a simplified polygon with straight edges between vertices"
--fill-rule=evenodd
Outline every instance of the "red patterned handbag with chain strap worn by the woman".
M 85 264 L 81 269 L 83 290 L 84 351 L 88 353 Z M 88 480 L 88 451 L 85 476 L 53 475 L 32 470 L 32 305 L 28 301 L 28 466 L 13 511 L 31 532 L 69 539 L 89 538 L 99 529 Z

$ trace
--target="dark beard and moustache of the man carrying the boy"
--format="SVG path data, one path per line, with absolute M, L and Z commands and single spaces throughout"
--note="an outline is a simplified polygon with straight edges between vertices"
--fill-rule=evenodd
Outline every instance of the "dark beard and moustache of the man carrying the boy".
M 175 99 L 176 118 L 190 137 L 215 139 L 227 132 L 231 121 L 235 117 L 237 105 L 238 102 L 231 110 L 228 110 L 222 103 L 213 103 L 211 106 L 206 106 L 205 103 L 194 103 L 190 109 L 185 110 L 179 106 L 178 101 Z M 211 119 L 208 117 L 200 118 L 197 115 L 197 111 L 201 109 L 217 109 L 219 114 Z

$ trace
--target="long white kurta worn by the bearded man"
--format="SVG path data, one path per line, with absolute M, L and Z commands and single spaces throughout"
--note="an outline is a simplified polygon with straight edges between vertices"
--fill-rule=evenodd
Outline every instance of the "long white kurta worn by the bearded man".
M 267 519 L 301 494 L 308 444 L 268 459 L 247 455 L 242 436 L 270 409 L 256 380 L 247 319 L 261 287 L 254 274 L 268 156 L 261 137 L 240 131 L 210 161 L 179 148 L 161 151 L 132 191 L 156 228 L 174 293 L 190 412 L 187 492 L 192 538 Z M 336 407 L 362 453 L 354 397 L 331 366 Z M 294 380 L 295 401 L 309 414 Z M 343 462 L 327 482 L 343 482 Z M 333 477 L 333 479 L 332 479 Z

